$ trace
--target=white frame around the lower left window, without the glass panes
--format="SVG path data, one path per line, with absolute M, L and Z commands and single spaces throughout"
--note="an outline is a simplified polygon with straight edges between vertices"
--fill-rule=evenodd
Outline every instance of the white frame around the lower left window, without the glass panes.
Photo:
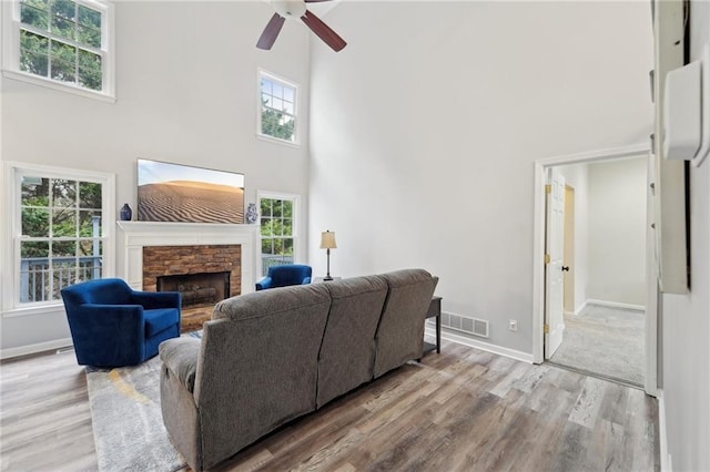
M 22 239 L 21 185 L 26 175 L 42 178 L 63 178 L 71 181 L 94 182 L 102 185 L 101 226 L 102 226 L 102 278 L 115 275 L 115 175 L 104 172 L 53 167 L 38 164 L 6 162 L 3 195 L 7 230 L 3 234 L 4 244 L 2 255 L 4 260 L 12 263 L 6 266 L 6 277 L 2 284 L 4 300 L 3 316 L 22 316 L 43 312 L 62 305 L 61 299 L 44 301 L 20 301 L 20 269 Z

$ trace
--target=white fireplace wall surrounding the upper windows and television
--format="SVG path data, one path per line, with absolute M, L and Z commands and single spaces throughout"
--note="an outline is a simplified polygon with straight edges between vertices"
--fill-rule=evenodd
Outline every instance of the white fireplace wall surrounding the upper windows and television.
M 118 209 L 135 208 L 138 157 L 245 174 L 246 201 L 257 189 L 307 195 L 310 33 L 288 23 L 270 52 L 255 48 L 273 14 L 265 2 L 115 4 L 115 103 L 11 79 L 1 83 L 2 160 L 110 172 Z M 303 144 L 256 138 L 257 68 L 302 86 Z M 307 207 L 304 206 L 304 215 Z M 7 206 L 2 206 L 1 247 Z M 306 219 L 302 222 L 305 227 Z M 302 247 L 305 257 L 305 244 Z M 14 275 L 2 252 L 2 280 Z M 23 314 L 2 297 L 3 352 L 69 338 L 63 309 Z

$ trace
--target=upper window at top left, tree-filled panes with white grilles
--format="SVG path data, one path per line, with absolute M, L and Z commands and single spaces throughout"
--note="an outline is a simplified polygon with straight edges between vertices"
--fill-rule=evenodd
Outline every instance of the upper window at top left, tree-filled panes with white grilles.
M 11 4 L 7 71 L 60 88 L 113 94 L 109 4 L 93 0 L 20 0 Z

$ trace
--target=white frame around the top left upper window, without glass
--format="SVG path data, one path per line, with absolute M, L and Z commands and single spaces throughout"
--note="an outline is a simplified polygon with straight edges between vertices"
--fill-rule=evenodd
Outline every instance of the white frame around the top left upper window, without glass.
M 105 0 L 71 0 L 101 12 L 101 79 L 102 90 L 84 89 L 77 84 L 53 80 L 20 70 L 20 0 L 2 1 L 2 75 L 104 102 L 115 102 L 114 7 Z

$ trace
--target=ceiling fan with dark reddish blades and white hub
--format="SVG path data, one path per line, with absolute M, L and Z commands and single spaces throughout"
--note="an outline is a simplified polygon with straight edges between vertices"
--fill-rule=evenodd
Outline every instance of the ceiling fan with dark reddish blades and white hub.
M 343 38 L 338 37 L 335 31 L 333 31 L 306 8 L 306 3 L 322 1 L 329 0 L 271 0 L 271 4 L 274 7 L 276 12 L 266 24 L 266 28 L 264 28 L 264 32 L 261 38 L 258 38 L 256 48 L 270 50 L 274 45 L 274 42 L 276 42 L 276 38 L 278 38 L 278 33 L 281 32 L 281 28 L 284 25 L 284 21 L 286 19 L 294 20 L 296 18 L 303 20 L 303 22 L 306 23 L 306 27 L 311 28 L 311 30 L 334 51 L 337 52 L 345 48 L 347 43 Z

